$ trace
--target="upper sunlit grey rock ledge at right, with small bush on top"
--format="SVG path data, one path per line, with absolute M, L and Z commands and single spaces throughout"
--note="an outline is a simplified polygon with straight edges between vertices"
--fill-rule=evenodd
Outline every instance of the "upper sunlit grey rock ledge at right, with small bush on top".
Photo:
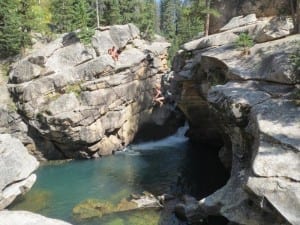
M 293 35 L 256 44 L 250 48 L 251 53 L 247 57 L 241 57 L 241 51 L 237 48 L 223 46 L 203 53 L 202 61 L 207 68 L 212 64 L 223 64 L 228 79 L 296 84 L 300 82 L 300 75 L 291 63 L 291 55 L 295 54 L 299 41 L 300 35 Z

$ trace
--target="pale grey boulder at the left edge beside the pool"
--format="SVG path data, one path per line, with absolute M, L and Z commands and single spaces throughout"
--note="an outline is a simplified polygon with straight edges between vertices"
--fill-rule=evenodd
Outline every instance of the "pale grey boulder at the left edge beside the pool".
M 0 134 L 0 209 L 32 187 L 38 165 L 18 139 Z

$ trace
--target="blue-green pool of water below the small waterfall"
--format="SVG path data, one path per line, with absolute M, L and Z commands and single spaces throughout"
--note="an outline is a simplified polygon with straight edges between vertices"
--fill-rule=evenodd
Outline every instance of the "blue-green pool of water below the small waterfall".
M 132 145 L 124 152 L 103 159 L 43 165 L 37 171 L 37 182 L 32 190 L 12 209 L 37 212 L 74 225 L 184 224 L 172 213 L 162 214 L 157 210 L 79 219 L 73 215 L 72 209 L 86 199 L 117 204 L 130 194 L 143 191 L 154 195 L 176 195 L 183 189 L 189 192 L 193 192 L 193 189 L 212 192 L 216 186 L 221 186 L 215 179 L 201 183 L 205 173 L 200 172 L 199 175 L 199 171 L 193 168 L 199 165 L 197 160 L 201 156 L 191 157 L 190 151 L 187 140 L 175 135 L 158 142 Z M 189 168 L 193 171 L 189 171 Z M 178 187 L 179 174 L 187 183 L 191 183 L 188 188 Z M 207 194 L 204 192 L 202 195 Z

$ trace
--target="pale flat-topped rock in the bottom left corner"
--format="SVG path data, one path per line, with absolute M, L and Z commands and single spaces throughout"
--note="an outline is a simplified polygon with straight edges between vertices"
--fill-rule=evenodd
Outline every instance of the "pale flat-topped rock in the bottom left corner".
M 26 211 L 0 211 L 1 225 L 71 225 L 57 219 L 50 219 L 35 213 Z

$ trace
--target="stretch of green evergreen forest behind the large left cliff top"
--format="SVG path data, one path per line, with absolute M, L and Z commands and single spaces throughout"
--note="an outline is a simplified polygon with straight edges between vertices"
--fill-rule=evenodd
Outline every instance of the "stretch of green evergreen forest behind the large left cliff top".
M 1 55 L 14 55 L 30 46 L 30 33 L 65 33 L 80 30 L 83 43 L 90 41 L 93 29 L 100 26 L 134 23 L 143 38 L 154 33 L 172 44 L 172 57 L 183 42 L 203 31 L 207 0 L 1 0 Z M 96 13 L 98 7 L 98 16 Z M 51 28 L 51 30 L 50 30 Z

